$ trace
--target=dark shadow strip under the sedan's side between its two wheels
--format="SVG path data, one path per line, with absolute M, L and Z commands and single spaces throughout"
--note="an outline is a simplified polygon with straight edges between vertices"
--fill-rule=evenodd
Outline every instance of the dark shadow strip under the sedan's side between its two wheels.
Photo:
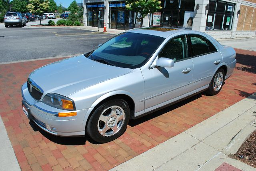
M 160 109 L 158 111 L 154 111 L 153 113 L 149 113 L 148 115 L 145 115 L 145 116 L 140 117 L 138 119 L 130 119 L 128 125 L 130 125 L 131 127 L 139 125 L 139 124 L 141 124 L 143 122 L 146 122 L 146 121 L 148 121 L 150 119 L 153 119 L 153 118 L 158 117 L 158 116 L 160 116 L 160 115 L 162 115 L 164 113 L 167 113 L 167 112 L 172 111 L 172 110 L 174 110 L 174 109 L 176 109 L 178 107 L 181 107 L 181 106 L 185 105 L 186 103 L 190 103 L 190 102 L 192 102 L 192 101 L 202 97 L 202 94 L 206 94 L 206 93 L 204 93 L 204 92 L 203 93 L 199 93 L 199 94 L 194 95 L 194 96 L 192 96 L 192 97 L 190 97 L 188 99 L 185 99 L 185 100 L 182 100 L 182 101 L 180 101 L 178 103 L 166 106 L 163 109 Z

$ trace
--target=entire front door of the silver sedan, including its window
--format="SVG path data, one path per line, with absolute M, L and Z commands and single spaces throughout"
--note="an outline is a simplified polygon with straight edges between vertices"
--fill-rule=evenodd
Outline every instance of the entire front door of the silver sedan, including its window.
M 157 58 L 174 60 L 174 67 L 142 70 L 145 80 L 145 111 L 191 91 L 189 84 L 192 82 L 193 60 L 188 58 L 185 35 L 176 36 L 168 41 Z

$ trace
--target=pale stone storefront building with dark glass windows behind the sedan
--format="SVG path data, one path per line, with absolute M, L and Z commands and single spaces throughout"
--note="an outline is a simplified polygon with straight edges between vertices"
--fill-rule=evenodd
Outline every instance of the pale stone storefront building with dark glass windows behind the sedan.
M 84 25 L 129 30 L 140 20 L 126 1 L 85 0 Z M 161 0 L 162 9 L 148 14 L 143 27 L 184 27 L 214 38 L 256 37 L 256 0 Z

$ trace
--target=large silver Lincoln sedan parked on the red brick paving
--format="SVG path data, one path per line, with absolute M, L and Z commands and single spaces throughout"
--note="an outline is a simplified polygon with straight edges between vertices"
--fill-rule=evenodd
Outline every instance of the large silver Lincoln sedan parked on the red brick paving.
M 122 135 L 130 119 L 202 91 L 216 95 L 235 65 L 235 50 L 208 34 L 132 29 L 34 70 L 21 88 L 23 111 L 53 135 L 104 143 Z

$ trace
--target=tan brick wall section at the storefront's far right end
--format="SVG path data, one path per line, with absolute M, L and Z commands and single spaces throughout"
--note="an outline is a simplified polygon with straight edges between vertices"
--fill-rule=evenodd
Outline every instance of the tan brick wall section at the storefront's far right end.
M 248 1 L 256 2 L 256 0 L 248 0 Z M 256 8 L 251 6 L 241 5 L 240 10 L 241 10 L 241 13 L 239 14 L 239 17 L 238 17 L 236 30 L 255 31 L 256 30 Z

